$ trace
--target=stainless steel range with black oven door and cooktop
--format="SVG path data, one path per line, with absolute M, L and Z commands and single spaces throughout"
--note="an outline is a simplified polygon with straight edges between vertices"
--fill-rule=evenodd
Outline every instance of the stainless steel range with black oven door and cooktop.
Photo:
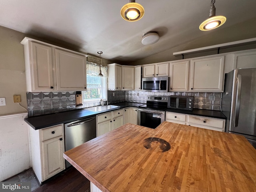
M 148 96 L 147 103 L 138 107 L 138 125 L 155 129 L 165 120 L 167 96 Z

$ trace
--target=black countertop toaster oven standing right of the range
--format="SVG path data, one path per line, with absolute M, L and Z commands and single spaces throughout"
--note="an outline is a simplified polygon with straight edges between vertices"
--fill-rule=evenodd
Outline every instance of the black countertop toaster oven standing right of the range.
M 192 96 L 169 96 L 168 108 L 193 110 L 194 97 Z

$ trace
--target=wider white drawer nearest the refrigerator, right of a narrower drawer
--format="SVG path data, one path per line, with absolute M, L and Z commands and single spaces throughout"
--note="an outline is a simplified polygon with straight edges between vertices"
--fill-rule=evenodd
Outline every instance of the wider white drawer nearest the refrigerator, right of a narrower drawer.
M 188 123 L 199 124 L 223 129 L 225 120 L 188 115 Z

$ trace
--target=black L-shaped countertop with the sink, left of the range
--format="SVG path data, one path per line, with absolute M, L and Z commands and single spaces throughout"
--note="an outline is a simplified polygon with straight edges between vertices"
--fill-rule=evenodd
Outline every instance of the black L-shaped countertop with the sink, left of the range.
M 120 102 L 120 103 L 113 103 L 112 105 L 119 106 L 120 109 L 126 107 L 138 107 L 144 105 L 144 103 L 133 103 L 133 102 Z M 117 110 L 119 108 L 115 108 L 113 110 Z M 59 112 L 55 114 L 47 114 L 41 116 L 33 116 L 25 118 L 25 122 L 27 122 L 32 128 L 35 130 L 62 124 L 62 123 L 69 123 L 76 120 L 81 120 L 83 118 L 89 118 L 96 116 L 98 114 L 103 114 L 107 112 L 111 112 L 113 110 L 102 111 L 102 112 L 92 112 L 89 110 L 84 109 L 76 109 L 71 111 Z

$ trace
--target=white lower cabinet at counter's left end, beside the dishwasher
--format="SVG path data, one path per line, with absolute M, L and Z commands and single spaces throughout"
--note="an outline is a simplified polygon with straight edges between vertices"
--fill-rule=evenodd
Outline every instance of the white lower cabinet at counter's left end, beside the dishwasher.
M 63 124 L 34 130 L 29 126 L 32 168 L 42 183 L 65 169 Z

